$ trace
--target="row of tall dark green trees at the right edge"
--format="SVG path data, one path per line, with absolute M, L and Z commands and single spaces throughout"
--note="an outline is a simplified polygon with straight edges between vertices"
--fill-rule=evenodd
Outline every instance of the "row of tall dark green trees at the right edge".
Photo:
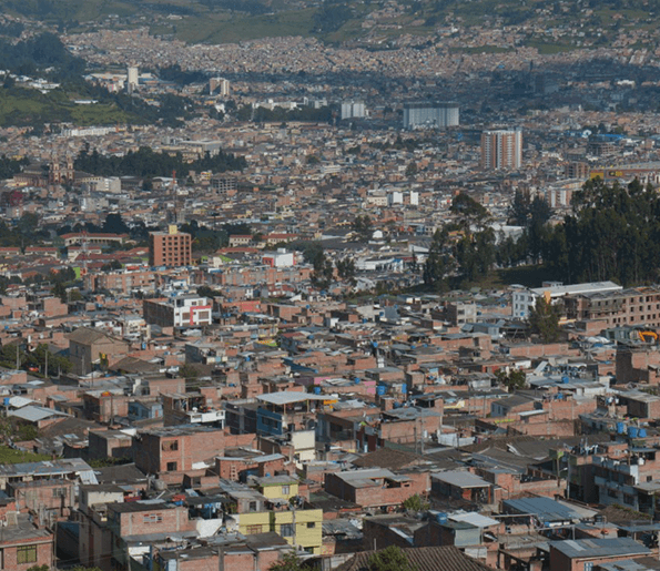
M 487 275 L 495 265 L 542 263 L 565 283 L 612 279 L 623 285 L 660 281 L 660 195 L 634 180 L 628 186 L 588 181 L 572 198 L 572 211 L 556 225 L 541 198 L 516 194 L 509 222 L 522 235 L 497 241 L 487 211 L 459 194 L 450 211 L 457 222 L 436 232 L 423 277 L 443 290 Z

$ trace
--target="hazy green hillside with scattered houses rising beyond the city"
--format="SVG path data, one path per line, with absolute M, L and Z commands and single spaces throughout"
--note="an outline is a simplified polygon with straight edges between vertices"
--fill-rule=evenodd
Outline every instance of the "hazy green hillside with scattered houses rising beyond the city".
M 607 44 L 627 30 L 654 35 L 660 13 L 660 0 L 0 0 L 0 6 L 7 14 L 69 32 L 149 26 L 153 33 L 212 43 L 303 35 L 387 45 L 406 34 L 451 34 L 455 27 L 520 28 L 518 44 L 546 52 Z

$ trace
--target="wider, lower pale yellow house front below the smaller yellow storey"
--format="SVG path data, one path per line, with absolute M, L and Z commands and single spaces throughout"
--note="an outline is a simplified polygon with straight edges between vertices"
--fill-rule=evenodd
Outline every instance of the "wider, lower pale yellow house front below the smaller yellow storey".
M 236 518 L 236 516 L 234 516 Z M 241 513 L 238 531 L 244 536 L 275 531 L 290 545 L 319 554 L 323 545 L 323 510 L 284 510 Z

